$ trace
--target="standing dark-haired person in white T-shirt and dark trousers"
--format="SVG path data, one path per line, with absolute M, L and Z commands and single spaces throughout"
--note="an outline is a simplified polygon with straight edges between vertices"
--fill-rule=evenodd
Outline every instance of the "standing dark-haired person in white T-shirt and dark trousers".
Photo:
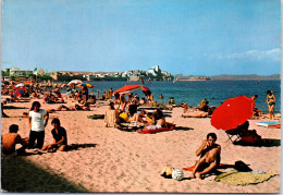
M 47 125 L 49 115 L 46 110 L 40 109 L 39 101 L 34 101 L 29 111 L 28 123 L 30 127 L 29 133 L 29 148 L 41 148 L 45 142 L 45 126 Z M 35 142 L 36 146 L 35 146 Z

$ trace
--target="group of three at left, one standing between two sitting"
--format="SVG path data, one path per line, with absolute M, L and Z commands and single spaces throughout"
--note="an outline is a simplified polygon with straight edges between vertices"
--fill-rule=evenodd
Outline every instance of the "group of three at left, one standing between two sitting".
M 28 124 L 30 127 L 29 137 L 22 138 L 19 132 L 19 125 L 12 124 L 9 127 L 9 133 L 2 134 L 2 154 L 3 155 L 25 155 L 26 148 L 37 148 L 41 151 L 64 151 L 67 146 L 67 136 L 64 127 L 61 126 L 60 120 L 54 118 L 51 121 L 53 129 L 51 134 L 53 142 L 48 145 L 45 143 L 45 127 L 48 123 L 49 114 L 46 110 L 40 109 L 40 102 L 34 101 L 32 109 L 28 113 Z M 21 144 L 22 147 L 16 149 L 16 144 Z

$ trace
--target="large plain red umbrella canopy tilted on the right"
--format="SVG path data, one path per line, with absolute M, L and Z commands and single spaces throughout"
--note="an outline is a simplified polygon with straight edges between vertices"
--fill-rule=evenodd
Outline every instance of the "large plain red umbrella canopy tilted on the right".
M 211 117 L 211 125 L 218 130 L 232 130 L 244 124 L 254 113 L 255 100 L 238 96 L 226 99 Z

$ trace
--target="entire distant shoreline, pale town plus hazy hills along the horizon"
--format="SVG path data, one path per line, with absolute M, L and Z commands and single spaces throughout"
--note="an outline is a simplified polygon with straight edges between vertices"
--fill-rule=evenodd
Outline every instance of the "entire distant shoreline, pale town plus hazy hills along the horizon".
M 35 68 L 34 71 L 21 70 L 19 66 L 12 66 L 1 71 L 1 81 L 54 81 L 54 82 L 70 82 L 72 80 L 82 81 L 261 81 L 261 80 L 281 80 L 280 74 L 272 74 L 268 76 L 248 74 L 248 75 L 172 75 L 168 71 L 162 71 L 159 65 L 155 65 L 147 71 L 128 70 L 125 72 L 74 72 L 74 71 L 56 71 L 48 72 L 42 69 Z

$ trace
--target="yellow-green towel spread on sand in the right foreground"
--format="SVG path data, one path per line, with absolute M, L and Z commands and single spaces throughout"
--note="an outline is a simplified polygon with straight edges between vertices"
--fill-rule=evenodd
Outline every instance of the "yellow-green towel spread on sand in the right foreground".
M 227 183 L 230 185 L 244 186 L 264 182 L 274 175 L 275 174 L 271 173 L 238 172 L 234 169 L 232 171 L 216 176 L 214 181 Z

